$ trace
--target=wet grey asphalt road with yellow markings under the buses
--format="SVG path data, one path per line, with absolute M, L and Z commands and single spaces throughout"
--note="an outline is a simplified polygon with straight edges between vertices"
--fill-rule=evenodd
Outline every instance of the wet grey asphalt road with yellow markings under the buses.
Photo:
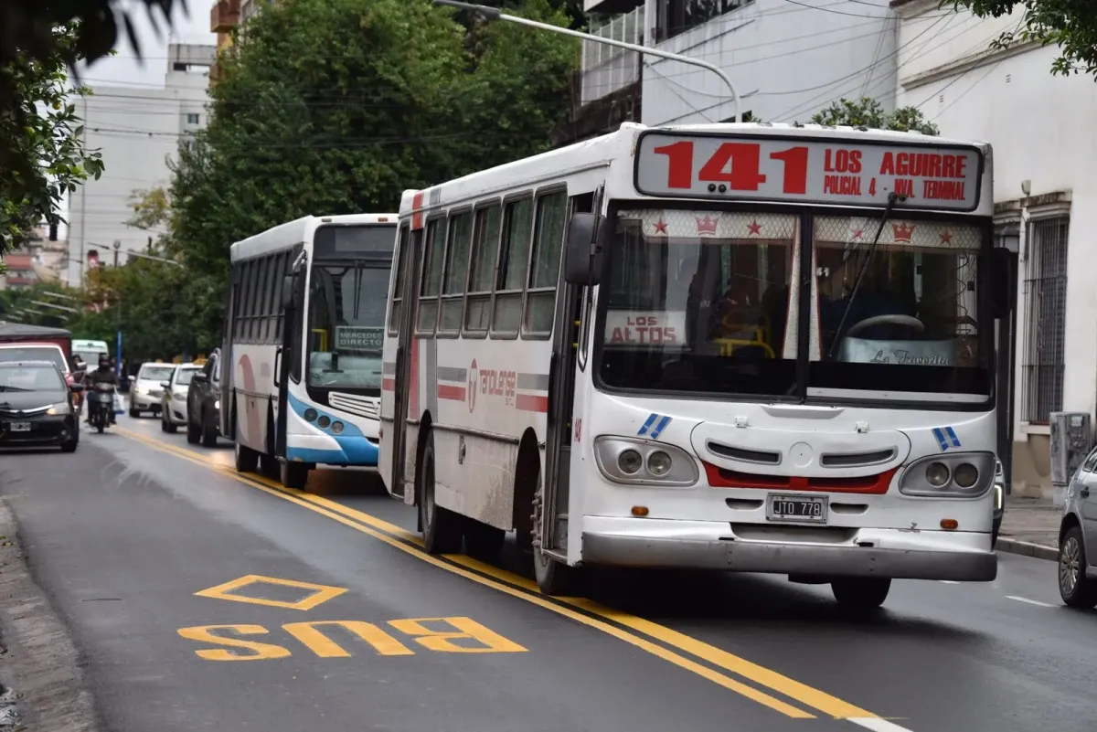
M 555 602 L 512 554 L 427 557 L 369 474 L 283 491 L 231 457 L 122 418 L 0 458 L 111 730 L 1097 727 L 1097 613 L 1061 606 L 1051 562 L 896 583 L 870 616 L 758 575 L 600 572 Z

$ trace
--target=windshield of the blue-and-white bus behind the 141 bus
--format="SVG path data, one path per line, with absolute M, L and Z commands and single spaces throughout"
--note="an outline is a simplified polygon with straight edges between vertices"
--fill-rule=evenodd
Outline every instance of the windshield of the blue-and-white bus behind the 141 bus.
M 315 264 L 308 295 L 308 386 L 381 389 L 389 266 Z

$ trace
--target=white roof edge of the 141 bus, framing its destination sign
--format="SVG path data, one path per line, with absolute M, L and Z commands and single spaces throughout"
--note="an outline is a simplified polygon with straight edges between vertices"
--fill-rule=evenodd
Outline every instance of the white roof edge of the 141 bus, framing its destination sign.
M 483 198 L 495 192 L 512 191 L 519 187 L 535 186 L 555 179 L 580 174 L 598 168 L 607 168 L 614 160 L 631 159 L 636 151 L 637 140 L 645 130 L 663 131 L 681 135 L 735 134 L 738 136 L 789 137 L 814 139 L 821 142 L 848 140 L 874 144 L 893 144 L 904 146 L 929 147 L 968 147 L 976 148 L 985 161 L 991 159 L 991 146 L 987 142 L 958 140 L 934 137 L 920 133 L 904 133 L 890 129 L 864 129 L 846 126 L 800 125 L 784 123 L 742 123 L 742 124 L 704 124 L 704 125 L 666 125 L 647 127 L 626 122 L 613 133 L 575 142 L 567 147 L 542 152 L 529 158 L 504 163 L 495 168 L 477 171 L 463 178 L 454 179 L 422 191 L 408 190 L 400 197 L 400 217 L 412 213 L 422 213 L 439 206 L 453 206 L 471 198 Z M 627 171 L 632 180 L 632 170 Z M 983 176 L 983 191 L 989 190 L 988 176 Z M 592 188 L 591 188 L 592 190 Z M 623 186 L 617 186 L 614 193 L 621 194 Z M 645 198 L 635 191 L 627 196 Z M 743 201 L 749 201 L 744 197 Z M 789 203 L 794 203 L 790 201 Z M 980 210 L 993 208 L 993 194 L 980 196 Z M 416 224 L 415 226 L 418 226 Z

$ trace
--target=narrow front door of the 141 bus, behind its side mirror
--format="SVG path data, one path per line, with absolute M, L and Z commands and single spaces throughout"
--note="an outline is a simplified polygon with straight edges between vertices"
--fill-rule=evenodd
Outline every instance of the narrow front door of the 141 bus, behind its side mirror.
M 583 193 L 568 199 L 567 216 L 590 214 L 601 201 L 598 193 Z M 566 227 L 565 227 L 566 230 Z M 561 247 L 563 256 L 564 247 Z M 573 408 L 575 402 L 576 373 L 579 364 L 579 340 L 585 312 L 590 296 L 589 288 L 569 285 L 559 267 L 559 286 L 556 298 L 556 318 L 553 322 L 552 361 L 548 366 L 548 433 L 545 437 L 544 511 L 541 513 L 542 549 L 566 552 L 567 505 L 570 495 Z

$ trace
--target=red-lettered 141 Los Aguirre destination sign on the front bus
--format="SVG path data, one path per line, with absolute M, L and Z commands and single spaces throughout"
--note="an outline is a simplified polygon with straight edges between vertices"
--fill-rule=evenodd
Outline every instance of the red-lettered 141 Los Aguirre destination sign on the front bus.
M 848 138 L 761 138 L 645 133 L 636 151 L 640 193 L 842 206 L 974 210 L 982 155 L 973 147 Z

